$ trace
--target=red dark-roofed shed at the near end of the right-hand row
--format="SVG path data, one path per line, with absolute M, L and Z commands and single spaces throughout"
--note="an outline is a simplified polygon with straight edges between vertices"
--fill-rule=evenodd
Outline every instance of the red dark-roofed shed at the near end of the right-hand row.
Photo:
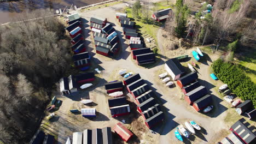
M 200 99 L 197 99 L 196 101 L 194 101 L 193 103 L 193 107 L 196 111 L 200 111 L 202 109 L 205 109 L 205 107 L 207 107 L 208 105 L 210 105 L 212 103 L 212 97 L 209 94 L 206 94 L 205 96 L 203 96 Z

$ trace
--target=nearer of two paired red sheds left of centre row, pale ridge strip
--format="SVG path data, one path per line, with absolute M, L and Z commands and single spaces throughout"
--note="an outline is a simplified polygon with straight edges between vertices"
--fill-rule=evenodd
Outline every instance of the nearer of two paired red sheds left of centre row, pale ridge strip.
M 110 107 L 109 109 L 112 117 L 124 116 L 130 113 L 130 106 L 128 104 Z

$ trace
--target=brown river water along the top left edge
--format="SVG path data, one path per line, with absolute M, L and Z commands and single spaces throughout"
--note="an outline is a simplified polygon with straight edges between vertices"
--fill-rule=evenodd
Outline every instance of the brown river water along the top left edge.
M 72 4 L 77 8 L 95 4 L 107 0 L 24 0 L 15 2 L 0 2 L 0 23 L 15 21 L 15 17 L 22 11 L 33 11 L 34 9 L 64 9 Z

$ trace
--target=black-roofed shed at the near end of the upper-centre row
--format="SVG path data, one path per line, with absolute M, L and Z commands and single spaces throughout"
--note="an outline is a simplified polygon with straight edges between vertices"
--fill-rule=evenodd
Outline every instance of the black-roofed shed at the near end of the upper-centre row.
M 136 56 L 136 61 L 138 65 L 154 63 L 155 62 L 155 54 L 153 52 L 144 53 Z

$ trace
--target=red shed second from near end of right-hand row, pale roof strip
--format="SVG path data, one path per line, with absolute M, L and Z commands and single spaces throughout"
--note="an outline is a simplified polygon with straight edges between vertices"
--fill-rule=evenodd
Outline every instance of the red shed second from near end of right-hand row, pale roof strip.
M 207 94 L 207 89 L 204 86 L 200 86 L 195 88 L 193 91 L 185 94 L 185 100 L 189 105 L 192 105 L 194 101 L 203 97 L 203 95 Z

